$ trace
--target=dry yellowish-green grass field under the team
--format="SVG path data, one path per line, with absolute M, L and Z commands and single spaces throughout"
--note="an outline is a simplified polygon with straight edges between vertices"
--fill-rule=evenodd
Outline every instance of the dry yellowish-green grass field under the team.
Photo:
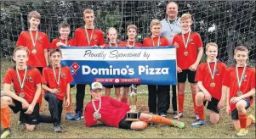
M 1 82 L 5 71 L 14 65 L 13 63 L 2 61 L 1 64 Z M 3 89 L 1 84 L 1 89 Z M 189 88 L 187 88 L 189 90 Z M 148 112 L 147 108 L 147 88 L 139 86 L 138 103 L 139 111 Z M 72 88 L 72 109 L 75 109 L 76 87 Z M 112 94 L 112 96 L 114 96 Z M 88 86 L 86 91 L 85 103 L 88 103 L 90 96 L 88 95 Z M 151 125 L 144 131 L 128 131 L 104 125 L 94 127 L 86 127 L 84 120 L 69 121 L 65 120 L 65 110 L 62 114 L 62 133 L 54 132 L 54 125 L 40 124 L 37 125 L 35 131 L 26 131 L 25 127 L 18 125 L 19 114 L 12 114 L 12 138 L 236 138 L 236 131 L 231 123 L 230 115 L 225 114 L 225 109 L 220 113 L 220 120 L 217 125 L 210 125 L 208 110 L 206 113 L 206 125 L 201 128 L 191 128 L 191 122 L 194 121 L 193 105 L 191 93 L 185 94 L 185 116 L 181 121 L 185 122 L 185 129 L 179 130 L 168 125 Z M 48 103 L 43 101 L 41 114 L 47 114 Z M 248 114 L 255 114 L 255 105 L 249 108 Z M 173 119 L 173 114 L 168 114 L 168 118 Z M 255 138 L 255 125 L 248 127 L 249 134 L 245 137 Z

